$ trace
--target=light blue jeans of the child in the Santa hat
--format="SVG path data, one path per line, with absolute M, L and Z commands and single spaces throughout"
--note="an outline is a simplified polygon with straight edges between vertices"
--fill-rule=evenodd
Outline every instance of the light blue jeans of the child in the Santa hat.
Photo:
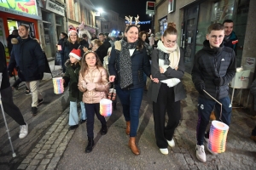
M 84 108 L 84 103 L 80 102 L 81 106 L 81 119 L 86 119 L 86 112 Z M 78 125 L 79 124 L 79 112 L 78 112 L 78 106 L 76 101 L 70 102 L 70 108 L 69 108 L 69 121 L 68 124 L 70 126 Z

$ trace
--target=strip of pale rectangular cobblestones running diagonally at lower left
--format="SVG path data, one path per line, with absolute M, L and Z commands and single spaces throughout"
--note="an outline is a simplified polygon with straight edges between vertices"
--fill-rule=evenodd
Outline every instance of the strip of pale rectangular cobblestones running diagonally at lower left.
M 55 169 L 74 133 L 68 131 L 68 111 L 61 114 L 17 169 Z

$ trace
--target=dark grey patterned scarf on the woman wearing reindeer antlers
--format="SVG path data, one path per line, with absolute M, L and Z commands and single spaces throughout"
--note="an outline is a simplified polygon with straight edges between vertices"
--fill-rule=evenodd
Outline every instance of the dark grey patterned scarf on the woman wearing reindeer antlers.
M 137 48 L 136 42 L 121 42 L 121 51 L 119 54 L 119 67 L 120 67 L 120 88 L 127 88 L 132 84 L 132 70 L 131 70 L 131 56 L 129 49 Z

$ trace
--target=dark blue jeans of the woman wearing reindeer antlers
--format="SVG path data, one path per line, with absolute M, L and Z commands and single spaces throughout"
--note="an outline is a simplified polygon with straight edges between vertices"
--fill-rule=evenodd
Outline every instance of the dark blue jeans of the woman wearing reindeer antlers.
M 139 122 L 139 111 L 143 100 L 143 88 L 124 90 L 116 86 L 116 91 L 123 106 L 125 121 L 131 121 L 130 137 L 135 137 Z

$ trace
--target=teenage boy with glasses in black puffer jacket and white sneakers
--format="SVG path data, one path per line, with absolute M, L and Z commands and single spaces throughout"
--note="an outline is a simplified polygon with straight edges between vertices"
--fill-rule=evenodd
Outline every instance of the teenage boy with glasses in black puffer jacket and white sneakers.
M 222 24 L 215 23 L 208 27 L 207 40 L 204 42 L 204 47 L 195 54 L 191 73 L 192 81 L 199 92 L 195 150 L 196 157 L 200 161 L 207 161 L 203 142 L 214 107 L 217 119 L 220 118 L 225 124 L 230 125 L 232 104 L 228 94 L 228 83 L 236 74 L 236 54 L 233 49 L 224 47 L 223 40 L 224 26 Z M 222 104 L 221 115 L 220 105 L 204 90 Z

